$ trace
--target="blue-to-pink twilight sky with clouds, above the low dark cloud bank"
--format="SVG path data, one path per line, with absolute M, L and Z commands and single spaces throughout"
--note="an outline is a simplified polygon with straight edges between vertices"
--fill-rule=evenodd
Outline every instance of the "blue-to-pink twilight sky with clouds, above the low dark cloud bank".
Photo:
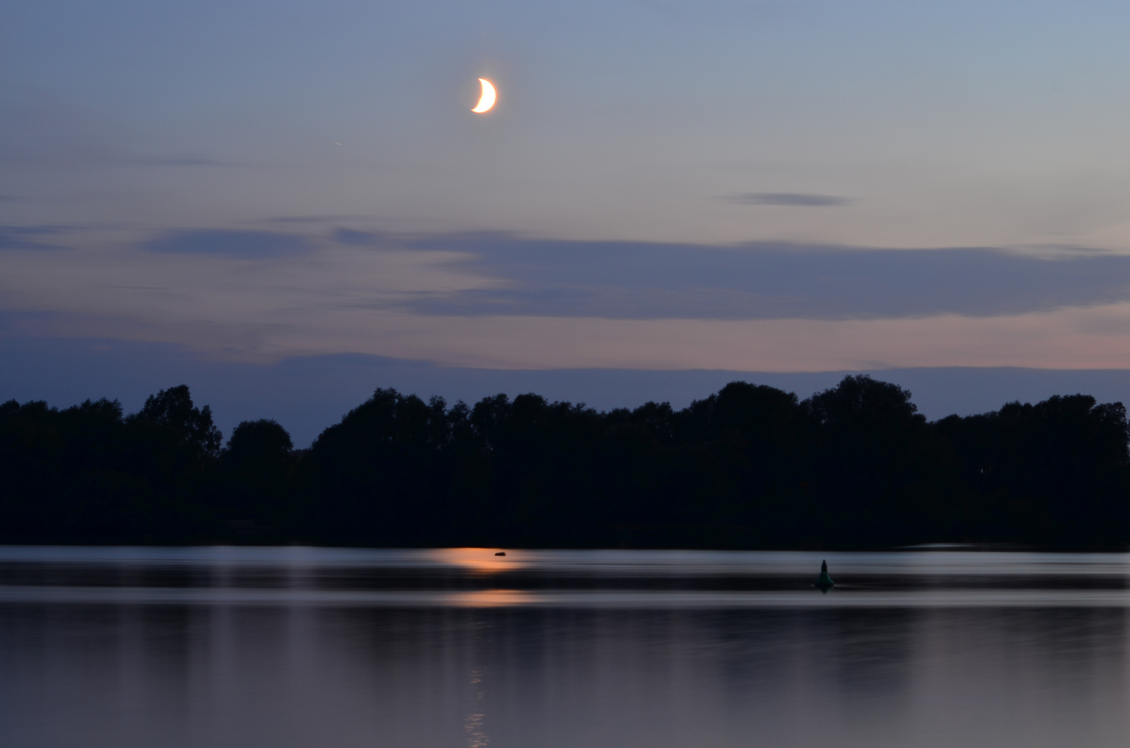
M 1031 0 L 8 0 L 0 363 L 1130 368 L 1128 27 Z M 32 368 L 15 390 L 52 399 Z

